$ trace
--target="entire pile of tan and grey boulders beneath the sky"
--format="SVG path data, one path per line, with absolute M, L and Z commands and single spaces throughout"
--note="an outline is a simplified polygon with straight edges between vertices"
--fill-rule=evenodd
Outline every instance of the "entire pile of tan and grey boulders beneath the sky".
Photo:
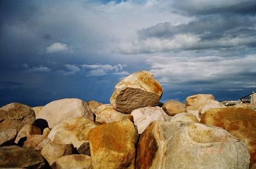
M 211 94 L 160 103 L 162 94 L 139 71 L 116 84 L 108 105 L 5 105 L 0 168 L 256 168 L 256 105 L 225 107 Z

